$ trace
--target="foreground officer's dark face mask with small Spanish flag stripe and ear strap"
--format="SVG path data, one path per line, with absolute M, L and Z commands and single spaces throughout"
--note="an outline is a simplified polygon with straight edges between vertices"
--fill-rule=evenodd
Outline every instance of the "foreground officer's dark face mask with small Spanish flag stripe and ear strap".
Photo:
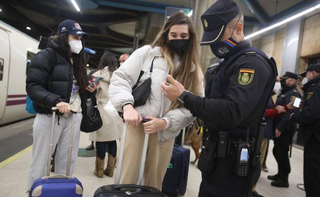
M 237 21 L 237 23 L 235 24 L 234 28 L 233 28 L 233 31 L 232 31 L 232 34 L 230 36 L 230 38 L 224 40 L 224 41 L 219 41 L 219 42 L 216 42 L 212 45 L 210 45 L 210 48 L 211 48 L 211 51 L 212 53 L 217 57 L 217 58 L 225 58 L 228 56 L 228 54 L 233 50 L 233 48 L 235 46 L 237 46 L 238 42 L 235 41 L 232 36 L 233 36 L 233 32 L 235 30 L 235 27 L 236 25 L 238 24 L 240 20 L 240 17 Z

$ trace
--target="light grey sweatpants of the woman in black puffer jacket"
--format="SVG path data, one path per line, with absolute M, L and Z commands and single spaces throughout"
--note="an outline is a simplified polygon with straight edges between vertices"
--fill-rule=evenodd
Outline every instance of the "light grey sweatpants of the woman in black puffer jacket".
M 70 176 L 75 167 L 75 161 L 78 154 L 80 124 L 82 114 L 75 115 L 73 148 L 71 155 Z M 52 115 L 37 114 L 33 123 L 33 148 L 32 148 L 32 163 L 28 174 L 28 187 L 30 188 L 33 182 L 41 177 L 46 176 L 47 159 L 49 154 L 50 133 L 51 133 Z M 57 144 L 55 155 L 55 173 L 66 174 L 68 148 L 70 143 L 72 115 L 69 118 L 60 116 L 59 125 L 58 117 L 55 117 L 54 134 L 53 134 L 53 150 Z

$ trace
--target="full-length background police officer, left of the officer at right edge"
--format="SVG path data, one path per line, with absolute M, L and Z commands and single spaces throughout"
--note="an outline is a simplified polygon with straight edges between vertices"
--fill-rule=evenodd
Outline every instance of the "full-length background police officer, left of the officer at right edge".
M 275 105 L 285 106 L 291 102 L 294 97 L 301 98 L 297 91 L 296 80 L 298 75 L 286 72 L 281 77 L 281 93 L 278 95 Z M 272 180 L 272 186 L 289 187 L 288 177 L 291 171 L 289 160 L 289 148 L 292 143 L 292 137 L 295 131 L 294 124 L 289 120 L 292 112 L 283 113 L 275 118 L 275 138 L 273 147 L 273 156 L 278 164 L 278 173 L 274 176 L 268 176 Z

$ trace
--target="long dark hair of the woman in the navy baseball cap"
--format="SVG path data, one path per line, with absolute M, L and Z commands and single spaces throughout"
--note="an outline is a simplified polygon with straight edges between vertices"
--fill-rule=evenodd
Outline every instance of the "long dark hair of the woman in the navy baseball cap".
M 73 58 L 73 74 L 76 78 L 76 85 L 79 86 L 79 91 L 86 91 L 86 87 L 88 86 L 88 75 L 87 75 L 87 60 L 85 56 L 85 52 L 82 49 L 79 54 L 71 53 L 69 41 L 68 41 L 69 33 L 64 33 L 60 35 L 53 36 L 50 40 L 55 41 L 61 51 L 65 54 L 66 58 Z M 85 46 L 85 42 L 83 39 L 82 46 Z

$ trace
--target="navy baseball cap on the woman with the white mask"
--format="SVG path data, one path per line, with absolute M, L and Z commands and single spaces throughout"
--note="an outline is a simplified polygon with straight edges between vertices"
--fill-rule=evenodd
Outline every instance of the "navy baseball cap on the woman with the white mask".
M 75 36 L 83 36 L 85 39 L 89 38 L 89 34 L 83 32 L 80 25 L 74 20 L 64 20 L 58 26 L 58 35 L 69 33 Z

